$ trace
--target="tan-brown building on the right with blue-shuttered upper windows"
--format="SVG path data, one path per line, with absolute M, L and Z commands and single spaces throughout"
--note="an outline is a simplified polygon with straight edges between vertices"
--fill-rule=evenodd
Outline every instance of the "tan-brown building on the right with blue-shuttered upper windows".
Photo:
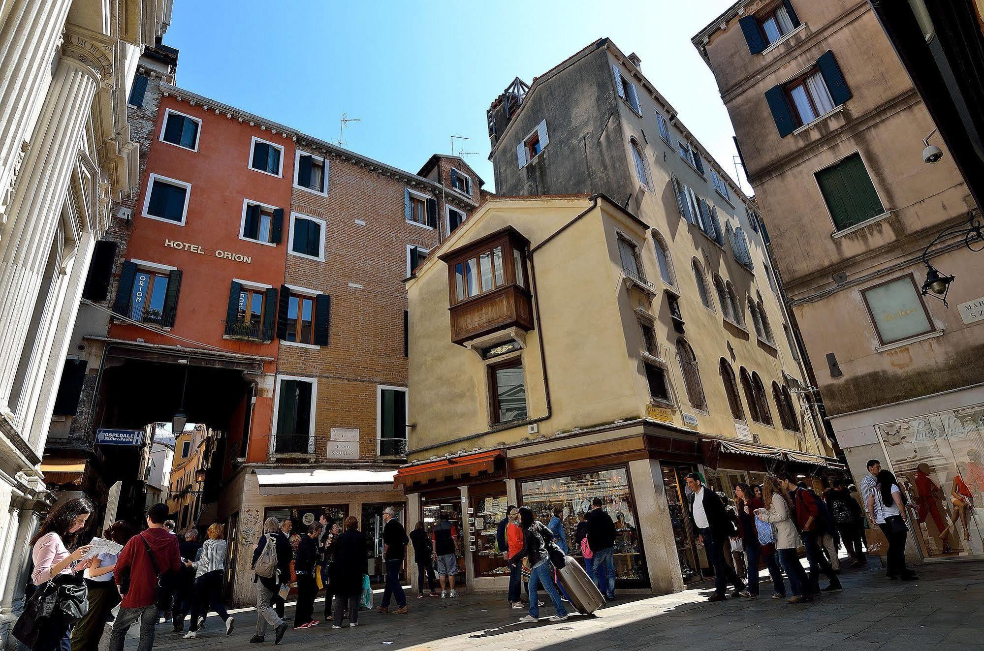
M 878 16 L 851 0 L 737 2 L 693 42 L 769 215 L 851 473 L 880 459 L 919 505 L 910 557 L 981 557 L 984 257 L 941 236 L 979 224 L 980 207 Z M 942 157 L 924 161 L 927 145 Z M 955 276 L 941 291 L 935 269 Z M 975 506 L 965 519 L 949 497 L 958 476 Z

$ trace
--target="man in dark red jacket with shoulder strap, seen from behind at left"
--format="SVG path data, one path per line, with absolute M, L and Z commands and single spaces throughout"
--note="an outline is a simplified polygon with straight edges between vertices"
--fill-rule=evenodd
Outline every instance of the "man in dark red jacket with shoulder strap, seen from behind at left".
M 113 569 L 116 584 L 119 585 L 124 570 L 129 568 L 130 590 L 123 595 L 119 614 L 116 621 L 113 621 L 109 651 L 123 651 L 126 631 L 137 620 L 140 620 L 140 644 L 137 651 L 151 651 L 154 646 L 154 626 L 158 617 L 157 571 L 177 572 L 181 568 L 178 539 L 164 528 L 166 519 L 166 504 L 151 506 L 147 510 L 147 531 L 131 538 L 116 559 L 116 567 Z M 157 571 L 154 570 L 154 563 Z

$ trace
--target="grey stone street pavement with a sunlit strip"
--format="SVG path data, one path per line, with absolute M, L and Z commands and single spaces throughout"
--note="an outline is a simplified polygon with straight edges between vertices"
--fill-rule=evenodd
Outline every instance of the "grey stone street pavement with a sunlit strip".
M 288 630 L 281 649 L 584 649 L 617 651 L 694 647 L 715 649 L 931 649 L 971 648 L 984 640 L 984 563 L 931 564 L 919 568 L 920 580 L 900 583 L 885 578 L 879 563 L 867 570 L 844 569 L 844 591 L 820 597 L 812 605 L 792 606 L 765 599 L 707 604 L 707 588 L 651 598 L 626 598 L 596 617 L 573 616 L 550 623 L 548 605 L 539 624 L 517 620 L 525 611 L 504 607 L 501 596 L 463 595 L 460 599 L 410 599 L 407 616 L 363 612 L 359 626 L 333 630 Z M 764 590 L 766 585 L 764 584 Z M 376 595 L 379 603 L 380 595 Z M 549 602 L 548 602 L 549 604 Z M 321 602 L 316 612 L 321 612 Z M 292 608 L 288 608 L 288 614 Z M 215 615 L 206 632 L 184 640 L 158 627 L 156 649 L 243 649 L 255 617 L 235 614 L 231 637 L 218 631 Z M 166 631 L 166 632 L 165 632 Z M 103 648 L 108 635 L 103 637 Z M 273 640 L 273 633 L 268 634 Z M 388 644 L 388 643 L 392 643 Z M 127 649 L 136 647 L 129 639 Z M 979 648 L 979 646 L 978 646 Z

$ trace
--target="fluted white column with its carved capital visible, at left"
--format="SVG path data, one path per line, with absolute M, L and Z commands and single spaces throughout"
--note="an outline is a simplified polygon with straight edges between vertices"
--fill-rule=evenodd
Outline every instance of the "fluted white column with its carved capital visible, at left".
M 0 409 L 10 397 L 98 82 L 89 66 L 61 58 L 9 207 L 0 260 Z

